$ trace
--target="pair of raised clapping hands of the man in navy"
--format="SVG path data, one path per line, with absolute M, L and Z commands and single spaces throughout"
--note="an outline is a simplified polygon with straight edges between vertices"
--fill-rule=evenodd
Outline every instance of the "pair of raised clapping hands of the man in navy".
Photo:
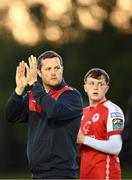
M 37 81 L 37 61 L 36 57 L 31 55 L 28 63 L 21 61 L 16 69 L 16 93 L 21 95 L 27 85 L 32 85 Z

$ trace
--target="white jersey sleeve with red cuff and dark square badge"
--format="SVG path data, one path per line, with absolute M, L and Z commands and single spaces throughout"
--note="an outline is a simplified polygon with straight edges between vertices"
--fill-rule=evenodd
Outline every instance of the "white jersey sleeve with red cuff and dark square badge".
M 117 105 L 112 105 L 108 108 L 108 119 L 107 119 L 107 134 L 108 137 L 111 135 L 121 134 L 124 128 L 124 114 Z

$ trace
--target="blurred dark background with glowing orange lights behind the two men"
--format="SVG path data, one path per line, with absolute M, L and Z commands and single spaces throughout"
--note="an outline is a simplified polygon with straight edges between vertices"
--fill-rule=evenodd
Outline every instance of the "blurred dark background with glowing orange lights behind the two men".
M 132 0 L 1 0 L 0 178 L 30 178 L 26 124 L 9 124 L 4 108 L 15 88 L 19 61 L 55 50 L 65 80 L 87 104 L 83 77 L 93 67 L 111 77 L 107 98 L 126 116 L 120 154 L 122 176 L 132 179 Z

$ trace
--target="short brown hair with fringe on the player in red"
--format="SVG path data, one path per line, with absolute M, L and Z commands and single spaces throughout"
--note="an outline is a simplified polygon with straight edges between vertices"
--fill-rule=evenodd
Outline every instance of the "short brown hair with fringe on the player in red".
M 84 83 L 87 82 L 87 77 L 100 79 L 101 76 L 104 76 L 106 83 L 109 84 L 110 78 L 109 78 L 108 73 L 104 69 L 100 69 L 100 68 L 92 68 L 92 69 L 90 69 L 86 73 L 86 75 L 84 76 Z

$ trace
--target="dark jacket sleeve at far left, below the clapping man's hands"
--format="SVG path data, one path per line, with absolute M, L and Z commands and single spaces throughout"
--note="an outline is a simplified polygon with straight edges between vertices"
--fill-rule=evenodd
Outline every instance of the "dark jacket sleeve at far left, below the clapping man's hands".
M 28 116 L 28 96 L 18 96 L 15 92 L 9 97 L 5 106 L 5 119 L 9 122 L 26 122 Z

